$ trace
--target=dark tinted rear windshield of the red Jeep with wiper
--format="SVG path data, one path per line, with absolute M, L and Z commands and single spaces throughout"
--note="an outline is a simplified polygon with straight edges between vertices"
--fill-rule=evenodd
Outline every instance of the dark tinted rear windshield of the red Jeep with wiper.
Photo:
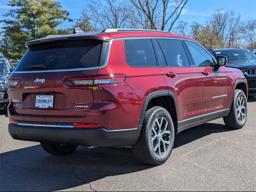
M 101 49 L 102 41 L 99 40 L 46 42 L 32 45 L 15 71 L 97 67 Z

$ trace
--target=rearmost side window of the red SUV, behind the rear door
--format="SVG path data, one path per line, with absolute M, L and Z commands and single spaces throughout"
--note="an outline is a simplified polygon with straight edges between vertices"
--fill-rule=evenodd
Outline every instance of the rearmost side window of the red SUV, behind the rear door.
M 126 60 L 133 67 L 157 66 L 150 39 L 124 40 Z

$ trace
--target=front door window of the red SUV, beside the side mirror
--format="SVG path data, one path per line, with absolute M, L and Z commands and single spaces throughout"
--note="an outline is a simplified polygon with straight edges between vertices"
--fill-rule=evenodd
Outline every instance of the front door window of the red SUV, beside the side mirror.
M 200 45 L 192 41 L 185 42 L 196 66 L 214 66 L 212 57 Z

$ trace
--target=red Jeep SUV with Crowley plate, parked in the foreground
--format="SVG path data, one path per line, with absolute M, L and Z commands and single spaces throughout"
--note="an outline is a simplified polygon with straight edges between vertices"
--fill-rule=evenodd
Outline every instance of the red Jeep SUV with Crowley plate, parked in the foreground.
M 222 117 L 228 128 L 246 122 L 246 78 L 192 38 L 74 30 L 26 47 L 9 80 L 9 133 L 50 154 L 132 146 L 142 162 L 159 165 L 182 130 Z

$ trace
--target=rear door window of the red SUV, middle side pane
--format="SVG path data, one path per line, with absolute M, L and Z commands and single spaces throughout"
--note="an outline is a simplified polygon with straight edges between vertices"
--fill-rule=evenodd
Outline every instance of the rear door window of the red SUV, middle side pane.
M 167 66 L 170 67 L 188 67 L 187 54 L 180 40 L 175 39 L 158 39 L 164 53 Z

